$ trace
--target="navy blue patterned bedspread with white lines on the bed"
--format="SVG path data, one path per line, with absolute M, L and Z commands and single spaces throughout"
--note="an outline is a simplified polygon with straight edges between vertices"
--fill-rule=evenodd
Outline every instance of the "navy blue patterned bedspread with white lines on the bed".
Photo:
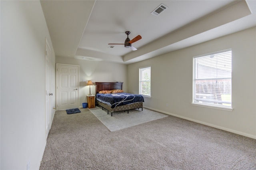
M 98 93 L 96 94 L 96 99 L 102 103 L 111 105 L 111 108 L 127 105 L 130 103 L 144 102 L 144 97 L 142 95 L 135 95 L 130 93 Z

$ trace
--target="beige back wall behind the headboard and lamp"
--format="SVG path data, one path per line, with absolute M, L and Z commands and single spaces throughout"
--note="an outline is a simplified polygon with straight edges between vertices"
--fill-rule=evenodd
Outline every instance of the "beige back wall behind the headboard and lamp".
M 80 107 L 82 103 L 87 103 L 86 95 L 90 91 L 89 86 L 86 86 L 88 80 L 92 80 L 94 85 L 95 82 L 120 81 L 123 82 L 123 90 L 127 91 L 127 65 L 58 56 L 56 56 L 56 63 L 80 65 Z M 95 86 L 91 86 L 91 94 L 95 94 Z

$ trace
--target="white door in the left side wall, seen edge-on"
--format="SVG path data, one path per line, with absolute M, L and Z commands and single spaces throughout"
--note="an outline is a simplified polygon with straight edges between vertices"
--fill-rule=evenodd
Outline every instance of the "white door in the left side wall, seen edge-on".
M 50 131 L 50 119 L 51 119 L 51 110 L 50 110 L 50 103 L 51 103 L 51 99 L 50 96 L 52 95 L 50 93 L 50 61 L 51 61 L 51 52 L 50 52 L 50 47 L 48 45 L 48 42 L 46 40 L 45 43 L 45 89 L 46 89 L 46 97 L 45 97 L 45 129 L 46 129 L 46 138 L 48 136 L 48 133 Z

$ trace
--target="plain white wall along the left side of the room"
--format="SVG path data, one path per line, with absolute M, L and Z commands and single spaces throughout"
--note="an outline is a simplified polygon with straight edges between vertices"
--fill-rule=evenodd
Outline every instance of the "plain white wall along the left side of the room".
M 1 3 L 1 169 L 38 169 L 46 145 L 45 38 L 55 54 L 40 1 Z M 51 101 L 55 106 L 55 99 Z M 51 117 L 54 115 L 52 109 Z

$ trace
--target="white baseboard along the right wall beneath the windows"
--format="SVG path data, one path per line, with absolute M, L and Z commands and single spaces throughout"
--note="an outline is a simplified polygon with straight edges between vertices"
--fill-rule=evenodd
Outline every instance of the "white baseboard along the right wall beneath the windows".
M 153 109 L 153 108 L 146 107 L 146 106 L 143 106 L 143 107 L 146 108 L 146 109 L 150 109 L 150 110 L 157 111 L 157 112 L 160 112 L 160 113 L 164 113 L 164 114 L 167 114 L 167 115 L 179 117 L 179 118 L 181 118 L 181 119 L 186 119 L 186 120 L 188 120 L 188 121 L 200 123 L 200 124 L 202 124 L 202 125 L 206 125 L 206 126 L 209 126 L 209 127 L 218 128 L 218 129 L 221 129 L 221 130 L 225 130 L 225 131 L 228 131 L 228 132 L 232 132 L 232 133 L 235 133 L 235 134 L 240 134 L 240 135 L 242 135 L 242 136 L 246 136 L 246 137 L 249 137 L 249 138 L 256 139 L 256 135 L 247 134 L 247 133 L 240 132 L 240 131 L 237 131 L 237 130 L 233 130 L 233 129 L 230 129 L 230 128 L 220 127 L 220 126 L 213 125 L 213 124 L 210 124 L 210 123 L 198 121 L 198 120 L 195 120 L 195 119 L 190 119 L 190 118 L 188 118 L 188 117 L 183 117 L 183 116 L 180 116 L 180 115 L 175 115 L 175 114 L 172 114 L 172 113 L 168 113 L 168 112 L 161 111 L 161 110 L 158 110 L 158 109 Z

